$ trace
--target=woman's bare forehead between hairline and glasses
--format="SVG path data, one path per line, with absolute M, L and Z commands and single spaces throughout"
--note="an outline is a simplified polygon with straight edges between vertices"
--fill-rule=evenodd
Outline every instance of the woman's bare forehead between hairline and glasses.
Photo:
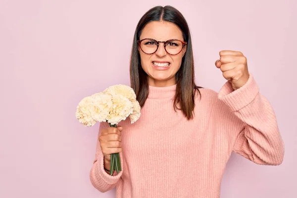
M 167 41 L 169 39 L 183 40 L 183 33 L 177 25 L 167 21 L 149 22 L 140 35 L 140 40 L 145 38 L 157 41 Z

